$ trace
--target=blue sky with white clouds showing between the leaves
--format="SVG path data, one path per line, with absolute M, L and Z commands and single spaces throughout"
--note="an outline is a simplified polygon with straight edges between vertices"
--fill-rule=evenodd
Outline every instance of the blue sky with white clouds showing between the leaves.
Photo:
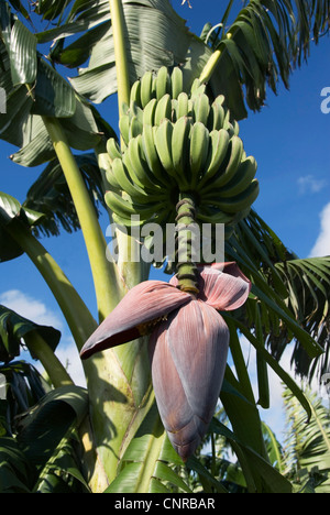
M 219 22 L 213 0 L 191 0 L 193 9 L 174 0 L 178 13 L 187 19 L 197 34 L 205 22 Z M 290 77 L 290 89 L 279 87 L 276 97 L 271 91 L 267 105 L 258 113 L 249 113 L 240 122 L 241 138 L 248 154 L 255 156 L 261 194 L 254 207 L 300 258 L 330 253 L 330 113 L 321 111 L 323 88 L 330 88 L 330 40 L 311 46 L 308 64 Z M 103 112 L 116 127 L 113 101 L 106 102 Z M 330 106 L 330 102 L 329 102 Z M 1 114 L 0 114 L 1 116 Z M 23 168 L 10 162 L 15 149 L 0 141 L 0 190 L 23 201 L 29 186 L 41 168 Z M 106 219 L 102 219 L 106 229 Z M 316 244 L 318 243 L 318 246 Z M 44 239 L 43 244 L 96 315 L 95 295 L 80 233 Z M 47 291 L 29 259 L 22 256 L 0 266 L 0 303 L 41 324 L 57 326 L 63 331 L 58 355 L 69 359 L 72 373 L 79 375 L 79 362 L 72 353 L 72 339 L 52 294 Z M 253 358 L 251 358 L 253 366 Z M 286 363 L 288 366 L 288 363 Z M 253 373 L 253 372 L 252 372 Z M 280 402 L 278 383 L 274 380 L 273 405 L 268 419 L 277 418 Z

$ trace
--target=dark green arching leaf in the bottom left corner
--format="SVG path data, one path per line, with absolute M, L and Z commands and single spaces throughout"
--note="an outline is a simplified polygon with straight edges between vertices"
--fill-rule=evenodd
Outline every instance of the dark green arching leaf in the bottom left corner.
M 9 401 L 1 403 L 3 410 Z M 15 434 L 0 437 L 1 493 L 88 492 L 73 447 L 73 430 L 87 409 L 87 392 L 70 385 L 50 391 L 16 415 Z

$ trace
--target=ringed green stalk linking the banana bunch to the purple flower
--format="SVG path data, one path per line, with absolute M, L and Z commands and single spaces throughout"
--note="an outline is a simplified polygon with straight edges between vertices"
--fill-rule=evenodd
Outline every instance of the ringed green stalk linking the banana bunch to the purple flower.
M 194 237 L 197 227 L 196 207 L 193 195 L 188 193 L 180 194 L 179 201 L 176 205 L 176 230 L 177 230 L 177 251 L 176 270 L 178 287 L 183 292 L 189 292 L 198 295 L 198 270 L 194 262 Z

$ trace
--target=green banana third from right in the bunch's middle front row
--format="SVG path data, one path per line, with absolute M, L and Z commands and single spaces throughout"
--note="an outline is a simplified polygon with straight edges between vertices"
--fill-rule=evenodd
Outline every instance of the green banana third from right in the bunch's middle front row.
M 191 173 L 191 186 L 197 187 L 200 175 L 209 153 L 209 131 L 201 122 L 196 122 L 190 131 L 189 167 Z

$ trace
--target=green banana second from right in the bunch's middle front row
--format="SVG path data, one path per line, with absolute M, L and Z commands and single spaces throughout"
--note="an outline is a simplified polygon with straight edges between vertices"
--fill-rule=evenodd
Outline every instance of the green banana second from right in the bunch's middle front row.
M 204 185 L 208 183 L 215 174 L 217 174 L 222 162 L 226 160 L 229 149 L 230 138 L 224 129 L 220 129 L 220 131 L 211 131 L 210 140 L 211 145 L 209 146 L 205 175 L 197 185 L 199 190 L 202 189 Z

